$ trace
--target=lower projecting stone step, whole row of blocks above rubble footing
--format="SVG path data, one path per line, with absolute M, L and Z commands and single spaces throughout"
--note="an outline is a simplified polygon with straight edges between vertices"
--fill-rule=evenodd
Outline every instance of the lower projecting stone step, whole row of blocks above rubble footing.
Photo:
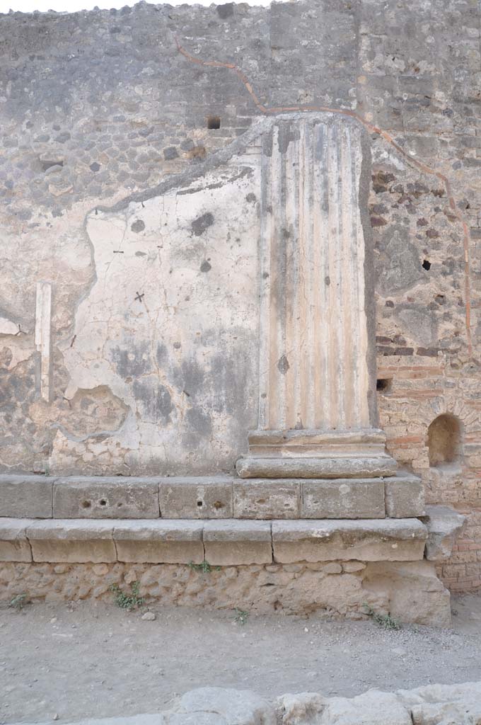
M 212 566 L 416 561 L 427 526 L 417 518 L 364 521 L 0 518 L 0 561 L 192 563 Z

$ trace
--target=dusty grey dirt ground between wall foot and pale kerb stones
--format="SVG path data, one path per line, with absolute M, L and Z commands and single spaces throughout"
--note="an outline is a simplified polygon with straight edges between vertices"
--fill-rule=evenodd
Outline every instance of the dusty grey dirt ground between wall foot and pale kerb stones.
M 453 597 L 453 629 L 315 616 L 76 602 L 0 608 L 0 722 L 155 713 L 206 685 L 274 698 L 306 690 L 353 697 L 430 682 L 481 680 L 481 592 Z M 145 610 L 144 610 L 145 611 Z

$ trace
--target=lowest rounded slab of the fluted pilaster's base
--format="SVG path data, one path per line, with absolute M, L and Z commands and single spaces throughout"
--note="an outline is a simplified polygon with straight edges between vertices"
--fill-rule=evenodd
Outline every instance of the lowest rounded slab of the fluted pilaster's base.
M 245 457 L 235 468 L 241 479 L 375 479 L 394 476 L 390 456 L 377 457 Z

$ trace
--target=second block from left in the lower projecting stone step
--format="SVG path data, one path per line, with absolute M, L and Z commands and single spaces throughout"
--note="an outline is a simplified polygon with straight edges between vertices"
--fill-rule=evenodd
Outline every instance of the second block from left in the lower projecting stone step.
M 97 564 L 117 560 L 113 528 L 106 521 L 52 519 L 31 521 L 26 533 L 33 561 Z

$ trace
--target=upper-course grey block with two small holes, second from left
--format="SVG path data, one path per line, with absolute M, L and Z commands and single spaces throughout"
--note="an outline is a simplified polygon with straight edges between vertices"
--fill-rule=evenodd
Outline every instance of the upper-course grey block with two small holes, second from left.
M 158 479 L 85 476 L 54 483 L 54 518 L 159 518 Z

